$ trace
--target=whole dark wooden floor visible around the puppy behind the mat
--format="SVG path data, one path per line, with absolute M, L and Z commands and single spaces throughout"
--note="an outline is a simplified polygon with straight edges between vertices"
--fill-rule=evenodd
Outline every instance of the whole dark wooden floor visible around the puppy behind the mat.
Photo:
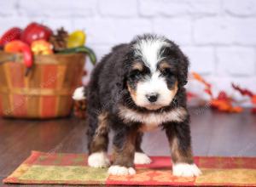
M 195 156 L 256 156 L 256 115 L 190 109 Z M 31 150 L 86 153 L 86 124 L 70 117 L 49 121 L 0 120 L 0 179 L 7 177 Z M 148 155 L 169 156 L 165 133 L 146 133 Z

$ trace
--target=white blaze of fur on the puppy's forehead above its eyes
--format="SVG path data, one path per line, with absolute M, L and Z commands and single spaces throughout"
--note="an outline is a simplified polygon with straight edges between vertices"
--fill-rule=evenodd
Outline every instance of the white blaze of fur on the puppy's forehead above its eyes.
M 170 44 L 164 37 L 146 38 L 134 45 L 135 54 L 143 58 L 143 62 L 148 65 L 151 71 L 156 70 L 156 65 L 160 61 L 160 49 L 168 47 Z

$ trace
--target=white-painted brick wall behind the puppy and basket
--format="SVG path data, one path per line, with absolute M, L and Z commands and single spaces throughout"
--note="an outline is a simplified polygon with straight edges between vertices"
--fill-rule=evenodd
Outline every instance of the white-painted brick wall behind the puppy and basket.
M 216 89 L 231 90 L 230 82 L 237 82 L 256 93 L 256 0 L 0 1 L 1 34 L 32 20 L 84 29 L 98 58 L 137 34 L 163 34 L 188 54 L 191 71 Z

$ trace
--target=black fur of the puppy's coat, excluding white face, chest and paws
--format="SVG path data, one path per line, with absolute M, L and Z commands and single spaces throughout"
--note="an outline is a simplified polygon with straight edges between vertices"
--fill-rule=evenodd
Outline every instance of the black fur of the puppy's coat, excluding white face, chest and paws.
M 133 44 L 143 38 L 155 37 L 154 35 L 144 35 L 137 37 L 131 43 L 121 44 L 114 47 L 110 54 L 106 55 L 102 61 L 96 65 L 96 68 L 91 74 L 90 83 L 87 88 L 87 122 L 88 128 L 88 142 L 89 152 L 91 153 L 90 145 L 92 144 L 93 137 L 97 128 L 97 117 L 102 112 L 108 112 L 108 125 L 114 131 L 113 144 L 119 155 L 119 158 L 114 161 L 113 164 L 119 164 L 126 167 L 133 166 L 134 151 L 143 151 L 140 147 L 142 133 L 138 131 L 142 126 L 139 122 L 123 122 L 118 116 L 119 105 L 124 105 L 133 111 L 147 113 L 160 113 L 163 111 L 171 111 L 177 107 L 183 107 L 186 109 L 186 92 L 183 86 L 187 83 L 188 78 L 188 66 L 189 60 L 180 50 L 180 48 L 174 42 L 167 40 L 166 42 L 171 44 L 170 48 L 163 48 L 163 54 L 166 55 L 168 63 L 172 64 L 172 72 L 163 72 L 163 76 L 166 76 L 166 81 L 170 85 L 177 80 L 177 94 L 172 100 L 170 105 L 162 107 L 155 111 L 148 111 L 146 108 L 137 106 L 131 99 L 131 94 L 127 88 L 127 82 L 131 86 L 135 86 L 135 83 L 131 79 L 134 79 L 131 75 L 131 65 L 137 57 L 134 55 Z M 145 72 L 148 73 L 148 72 Z M 172 73 L 172 77 L 168 77 Z M 189 132 L 189 115 L 183 122 L 166 122 L 162 124 L 163 129 L 166 130 L 166 135 L 172 146 L 172 139 L 177 138 L 180 150 L 186 157 L 186 152 L 190 149 L 190 132 Z M 106 141 L 108 137 L 105 136 Z M 130 143 L 133 145 L 127 145 L 127 139 L 130 139 Z M 133 140 L 131 140 L 133 139 Z M 129 146 L 129 147 L 127 147 Z M 102 145 L 102 150 L 106 150 L 106 146 Z M 126 156 L 124 156 L 124 151 Z M 188 153 L 188 156 L 189 157 Z M 175 158 L 176 159 L 176 158 Z M 186 160 L 187 161 L 187 160 Z M 192 158 L 188 158 L 188 162 L 193 162 Z

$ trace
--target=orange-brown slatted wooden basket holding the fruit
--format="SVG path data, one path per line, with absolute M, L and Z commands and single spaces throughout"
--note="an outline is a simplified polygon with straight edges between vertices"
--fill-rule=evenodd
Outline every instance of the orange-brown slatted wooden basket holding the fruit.
M 72 111 L 72 94 L 81 85 L 84 54 L 37 55 L 28 76 L 21 54 L 0 53 L 11 59 L 0 65 L 0 116 L 53 118 Z M 0 60 L 1 61 L 1 60 Z

